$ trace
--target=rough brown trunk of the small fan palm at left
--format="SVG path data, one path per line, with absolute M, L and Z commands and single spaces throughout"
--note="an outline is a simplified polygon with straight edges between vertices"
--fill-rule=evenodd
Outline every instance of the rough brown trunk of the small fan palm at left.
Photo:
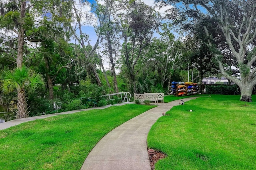
M 21 119 L 28 117 L 28 105 L 26 102 L 26 95 L 24 88 L 18 88 L 18 103 L 17 103 L 17 114 L 16 118 Z

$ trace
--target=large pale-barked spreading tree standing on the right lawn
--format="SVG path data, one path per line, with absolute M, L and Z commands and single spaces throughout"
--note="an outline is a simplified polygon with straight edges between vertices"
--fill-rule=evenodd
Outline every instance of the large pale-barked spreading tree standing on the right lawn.
M 256 85 L 256 1 L 254 0 L 156 0 L 172 4 L 169 17 L 182 26 L 201 30 L 221 73 L 241 90 L 240 100 L 251 102 Z M 184 28 L 184 27 L 183 27 Z M 238 63 L 240 77 L 233 76 L 221 55 L 218 37 L 224 37 Z M 238 48 L 236 48 L 238 45 Z

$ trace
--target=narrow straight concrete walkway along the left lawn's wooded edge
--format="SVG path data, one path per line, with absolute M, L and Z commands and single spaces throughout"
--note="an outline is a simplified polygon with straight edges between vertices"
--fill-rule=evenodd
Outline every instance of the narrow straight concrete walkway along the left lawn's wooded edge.
M 72 111 L 65 111 L 65 112 L 54 113 L 54 114 L 49 114 L 49 115 L 41 115 L 41 116 L 27 117 L 27 118 L 22 118 L 22 119 L 15 119 L 15 120 L 7 121 L 4 123 L 0 123 L 0 130 L 7 129 L 12 126 L 19 125 L 20 123 L 24 123 L 27 121 L 33 121 L 36 119 L 44 119 L 44 118 L 52 117 L 52 116 L 56 116 L 56 115 L 65 115 L 65 114 L 76 113 L 76 112 L 86 111 L 86 110 L 91 110 L 91 109 L 105 109 L 110 106 L 121 106 L 124 104 L 132 104 L 132 103 L 134 103 L 134 102 L 127 102 L 127 103 L 122 103 L 122 104 L 113 104 L 113 105 L 94 107 L 94 108 L 89 108 L 89 109 L 72 110 Z

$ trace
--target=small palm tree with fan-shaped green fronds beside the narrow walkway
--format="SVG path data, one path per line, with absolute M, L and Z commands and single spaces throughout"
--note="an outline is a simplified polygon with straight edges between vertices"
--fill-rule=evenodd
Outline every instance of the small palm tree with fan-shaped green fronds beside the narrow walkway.
M 36 89 L 43 87 L 44 84 L 42 75 L 26 66 L 15 68 L 14 70 L 6 69 L 0 76 L 0 89 L 3 93 L 9 94 L 14 90 L 18 92 L 17 119 L 28 117 L 25 90 L 36 91 Z

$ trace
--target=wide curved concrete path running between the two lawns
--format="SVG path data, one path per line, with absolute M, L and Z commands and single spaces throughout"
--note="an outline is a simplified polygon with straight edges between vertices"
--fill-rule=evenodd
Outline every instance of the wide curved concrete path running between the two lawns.
M 194 98 L 181 100 L 186 102 Z M 113 129 L 92 149 L 81 170 L 151 170 L 148 132 L 162 113 L 180 102 L 176 100 L 161 104 Z

